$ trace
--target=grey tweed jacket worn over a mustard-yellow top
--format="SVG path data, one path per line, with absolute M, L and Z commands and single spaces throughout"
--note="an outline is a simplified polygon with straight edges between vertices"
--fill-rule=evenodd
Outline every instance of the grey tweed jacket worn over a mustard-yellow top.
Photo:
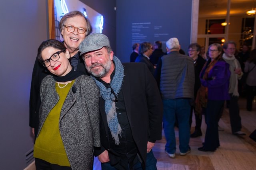
M 42 80 L 38 134 L 47 115 L 57 104 L 56 81 L 51 75 Z M 100 147 L 99 89 L 89 76 L 76 78 L 62 106 L 59 120 L 60 135 L 73 170 L 92 169 L 93 148 Z

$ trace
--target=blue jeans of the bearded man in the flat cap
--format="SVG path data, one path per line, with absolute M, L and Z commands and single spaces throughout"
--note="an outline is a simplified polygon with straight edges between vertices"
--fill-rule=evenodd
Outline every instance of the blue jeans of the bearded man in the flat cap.
M 102 163 L 101 164 L 101 169 L 102 170 L 116 170 L 116 168 L 114 166 L 111 166 L 110 162 Z M 129 168 L 129 165 L 128 165 L 127 170 L 129 170 L 129 169 L 130 168 Z M 142 170 L 141 163 L 137 162 L 133 166 L 133 170 Z M 147 153 L 146 170 L 157 170 L 157 168 L 156 168 L 156 158 L 155 158 L 152 150 Z

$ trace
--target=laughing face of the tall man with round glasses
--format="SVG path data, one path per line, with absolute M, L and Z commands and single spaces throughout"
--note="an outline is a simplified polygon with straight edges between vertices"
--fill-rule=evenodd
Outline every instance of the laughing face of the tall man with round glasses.
M 72 25 L 74 27 L 84 27 L 86 28 L 86 21 L 84 17 L 82 16 L 75 16 L 72 18 L 68 18 L 64 25 Z M 61 34 L 64 39 L 64 45 L 70 52 L 70 55 L 73 57 L 78 52 L 78 46 L 79 44 L 84 40 L 86 37 L 86 32 L 83 34 L 78 33 L 77 29 L 75 29 L 74 32 L 70 33 L 66 29 L 66 27 L 63 27 Z

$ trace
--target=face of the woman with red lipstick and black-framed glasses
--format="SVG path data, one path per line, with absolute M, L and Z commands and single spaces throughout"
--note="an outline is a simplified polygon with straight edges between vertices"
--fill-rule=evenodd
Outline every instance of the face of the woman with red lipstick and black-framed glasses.
M 46 47 L 41 53 L 43 61 L 50 59 L 50 57 L 58 51 L 60 50 L 53 47 Z M 48 66 L 47 69 L 56 76 L 65 76 L 72 69 L 72 66 L 68 61 L 70 54 L 68 50 L 66 50 L 63 53 L 60 53 L 59 56 L 60 59 L 58 59 L 58 61 L 50 60 L 50 66 Z

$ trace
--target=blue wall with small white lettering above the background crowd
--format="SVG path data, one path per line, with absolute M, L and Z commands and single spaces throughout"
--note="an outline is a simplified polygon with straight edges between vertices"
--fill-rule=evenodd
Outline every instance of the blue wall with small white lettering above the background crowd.
M 116 55 L 122 62 L 130 61 L 132 52 L 132 23 L 151 23 L 140 34 L 141 42 L 167 41 L 177 37 L 181 48 L 190 44 L 191 0 L 117 0 L 116 1 Z M 144 25 L 147 26 L 147 25 Z M 154 28 L 162 26 L 159 29 Z M 155 33 L 165 33 L 154 37 Z M 164 51 L 165 45 L 163 46 Z

